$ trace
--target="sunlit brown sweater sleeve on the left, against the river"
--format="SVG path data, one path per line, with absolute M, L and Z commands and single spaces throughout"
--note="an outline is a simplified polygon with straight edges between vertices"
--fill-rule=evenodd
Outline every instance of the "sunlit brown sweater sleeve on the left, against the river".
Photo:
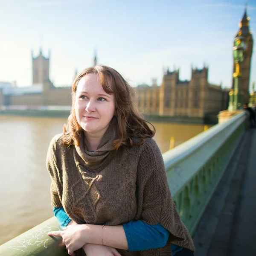
M 59 137 L 59 136 L 58 136 Z M 61 195 L 62 195 L 62 175 L 57 165 L 56 160 L 56 136 L 52 138 L 48 151 L 46 166 L 51 177 L 52 183 L 50 187 L 52 206 L 53 207 L 62 207 L 61 204 Z

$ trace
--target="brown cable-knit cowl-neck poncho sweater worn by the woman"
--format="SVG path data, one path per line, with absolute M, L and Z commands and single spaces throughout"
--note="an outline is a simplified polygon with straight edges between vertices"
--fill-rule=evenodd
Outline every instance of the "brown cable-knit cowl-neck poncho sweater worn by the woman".
M 142 220 L 160 223 L 170 232 L 162 248 L 128 252 L 122 256 L 171 256 L 171 243 L 195 250 L 188 230 L 171 198 L 163 157 L 157 143 L 113 148 L 116 128 L 109 126 L 94 152 L 87 151 L 83 134 L 78 146 L 67 148 L 61 134 L 53 137 L 47 154 L 52 178 L 53 207 L 64 207 L 80 224 L 119 225 Z M 82 255 L 82 249 L 76 255 Z

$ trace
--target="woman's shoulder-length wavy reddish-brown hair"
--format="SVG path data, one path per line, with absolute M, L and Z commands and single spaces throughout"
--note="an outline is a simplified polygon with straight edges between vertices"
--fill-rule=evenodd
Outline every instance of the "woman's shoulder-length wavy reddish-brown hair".
M 67 119 L 67 126 L 64 125 L 63 144 L 66 146 L 78 145 L 80 132 L 83 131 L 76 119 L 75 100 L 76 88 L 83 76 L 94 73 L 99 76 L 100 83 L 106 93 L 113 93 L 115 96 L 115 116 L 117 119 L 117 140 L 114 140 L 113 146 L 116 150 L 121 145 L 131 147 L 141 145 L 145 138 L 154 136 L 156 130 L 154 126 L 143 118 L 137 105 L 134 103 L 135 92 L 125 79 L 113 68 L 104 65 L 89 67 L 78 73 L 72 85 L 72 109 Z M 151 130 L 148 126 L 153 128 Z M 133 142 L 133 138 L 139 138 Z

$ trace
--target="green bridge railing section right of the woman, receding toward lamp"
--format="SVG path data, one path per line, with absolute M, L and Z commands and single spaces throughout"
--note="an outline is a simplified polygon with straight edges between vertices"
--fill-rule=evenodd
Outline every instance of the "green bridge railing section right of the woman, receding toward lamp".
M 246 128 L 242 112 L 163 154 L 172 198 L 193 234 Z

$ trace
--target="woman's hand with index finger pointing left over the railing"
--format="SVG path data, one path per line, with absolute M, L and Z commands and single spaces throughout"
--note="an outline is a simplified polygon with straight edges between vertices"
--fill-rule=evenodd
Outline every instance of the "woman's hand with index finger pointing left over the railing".
M 85 229 L 81 224 L 73 223 L 70 226 L 64 227 L 63 231 L 51 231 L 48 236 L 60 236 L 62 237 L 62 242 L 66 245 L 68 254 L 75 256 L 75 250 L 80 249 L 86 244 L 85 241 Z

